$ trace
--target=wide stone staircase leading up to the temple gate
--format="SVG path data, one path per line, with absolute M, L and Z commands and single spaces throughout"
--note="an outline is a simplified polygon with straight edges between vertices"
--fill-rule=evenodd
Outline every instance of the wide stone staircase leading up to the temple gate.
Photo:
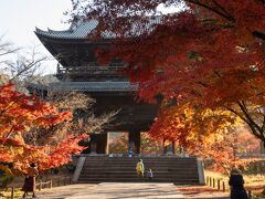
M 85 159 L 84 159 L 85 158 Z M 145 169 L 152 169 L 153 182 L 200 184 L 197 158 L 181 157 L 83 157 L 83 167 L 77 165 L 78 182 L 141 182 L 148 181 L 136 175 L 136 164 L 144 160 Z M 78 170 L 78 169 L 76 169 Z M 78 172 L 78 171 L 77 171 Z M 203 184 L 203 182 L 202 182 Z

